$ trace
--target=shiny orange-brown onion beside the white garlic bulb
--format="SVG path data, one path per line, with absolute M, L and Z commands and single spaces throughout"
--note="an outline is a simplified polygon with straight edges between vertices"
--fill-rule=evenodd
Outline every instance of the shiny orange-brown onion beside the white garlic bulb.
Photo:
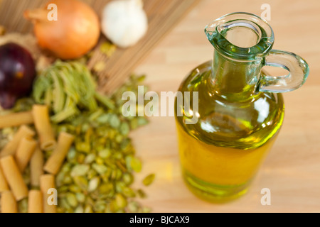
M 48 20 L 49 4 L 57 6 L 56 21 Z M 24 16 L 33 21 L 41 48 L 64 60 L 85 55 L 97 44 L 100 36 L 97 14 L 78 0 L 48 1 L 43 9 L 26 11 Z

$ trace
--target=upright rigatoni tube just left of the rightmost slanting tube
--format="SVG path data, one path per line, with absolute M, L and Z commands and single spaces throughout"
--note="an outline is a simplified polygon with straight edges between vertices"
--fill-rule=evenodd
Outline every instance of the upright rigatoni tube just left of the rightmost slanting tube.
M 40 176 L 43 175 L 43 153 L 39 146 L 36 146 L 36 150 L 30 160 L 30 182 L 31 186 L 40 186 Z

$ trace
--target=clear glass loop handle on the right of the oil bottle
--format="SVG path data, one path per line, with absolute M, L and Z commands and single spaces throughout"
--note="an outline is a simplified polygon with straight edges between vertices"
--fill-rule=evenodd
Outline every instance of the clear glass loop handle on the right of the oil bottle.
M 283 50 L 271 50 L 265 57 L 265 66 L 281 67 L 289 74 L 280 77 L 262 74 L 257 92 L 291 92 L 301 87 L 309 75 L 309 66 L 302 57 Z

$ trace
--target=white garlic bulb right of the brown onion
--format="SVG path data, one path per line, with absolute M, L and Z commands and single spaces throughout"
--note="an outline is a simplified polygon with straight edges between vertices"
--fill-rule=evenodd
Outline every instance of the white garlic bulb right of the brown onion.
M 120 48 L 136 44 L 148 29 L 142 0 L 111 1 L 102 11 L 102 33 Z

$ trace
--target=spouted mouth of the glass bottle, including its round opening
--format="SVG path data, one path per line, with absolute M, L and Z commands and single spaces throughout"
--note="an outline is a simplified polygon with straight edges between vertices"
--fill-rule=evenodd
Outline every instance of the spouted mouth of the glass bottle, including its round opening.
M 220 54 L 233 60 L 252 61 L 265 57 L 272 49 L 272 28 L 252 13 L 230 13 L 205 28 L 210 43 Z

